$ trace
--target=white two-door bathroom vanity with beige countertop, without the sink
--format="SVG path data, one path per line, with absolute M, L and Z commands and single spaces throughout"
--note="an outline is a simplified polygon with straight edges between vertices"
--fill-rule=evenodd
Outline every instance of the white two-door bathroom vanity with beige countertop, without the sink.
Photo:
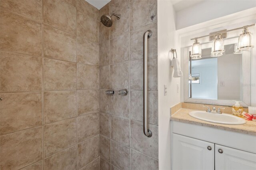
M 210 123 L 191 111 L 171 116 L 172 170 L 256 170 L 256 122 Z

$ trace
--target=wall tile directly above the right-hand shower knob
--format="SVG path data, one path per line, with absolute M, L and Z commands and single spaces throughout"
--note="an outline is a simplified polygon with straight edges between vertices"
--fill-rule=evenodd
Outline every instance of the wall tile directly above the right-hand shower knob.
M 110 65 L 110 88 L 129 89 L 129 61 Z

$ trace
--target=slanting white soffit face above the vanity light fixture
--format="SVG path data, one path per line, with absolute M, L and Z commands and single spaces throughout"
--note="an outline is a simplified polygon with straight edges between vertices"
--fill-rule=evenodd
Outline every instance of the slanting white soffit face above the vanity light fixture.
M 204 0 L 176 12 L 176 30 L 256 7 L 256 0 Z

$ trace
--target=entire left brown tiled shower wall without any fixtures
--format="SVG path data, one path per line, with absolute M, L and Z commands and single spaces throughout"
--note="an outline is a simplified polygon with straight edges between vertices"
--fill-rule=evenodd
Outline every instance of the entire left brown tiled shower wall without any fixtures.
M 99 10 L 0 0 L 1 170 L 99 169 Z

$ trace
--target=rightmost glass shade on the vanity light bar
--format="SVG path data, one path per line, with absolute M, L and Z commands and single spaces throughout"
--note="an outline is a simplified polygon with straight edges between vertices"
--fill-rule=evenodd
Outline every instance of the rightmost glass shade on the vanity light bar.
M 244 28 L 242 34 L 240 34 L 238 38 L 238 49 L 245 50 L 253 47 L 254 46 L 252 45 L 252 35 L 250 34 L 250 32 L 248 32 L 247 28 Z

